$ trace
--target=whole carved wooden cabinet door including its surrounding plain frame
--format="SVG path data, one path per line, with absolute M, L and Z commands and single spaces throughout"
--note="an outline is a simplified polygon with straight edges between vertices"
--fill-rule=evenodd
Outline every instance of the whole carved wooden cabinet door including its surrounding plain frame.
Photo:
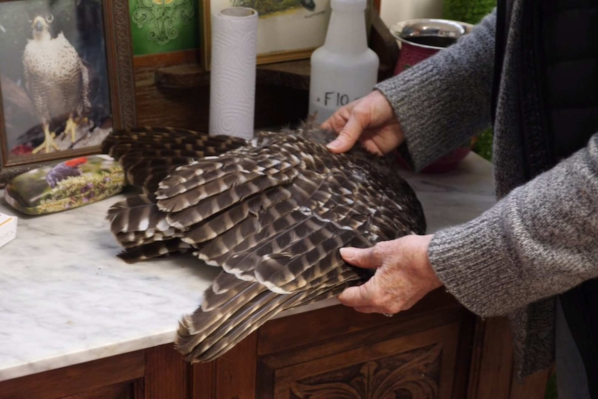
M 473 319 L 440 298 L 393 318 L 334 306 L 309 323 L 298 315 L 264 325 L 256 398 L 463 397 Z

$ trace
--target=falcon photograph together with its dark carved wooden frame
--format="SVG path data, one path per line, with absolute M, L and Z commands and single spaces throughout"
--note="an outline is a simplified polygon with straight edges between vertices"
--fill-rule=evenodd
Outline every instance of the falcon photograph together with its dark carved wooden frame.
M 0 187 L 135 126 L 128 0 L 0 0 Z

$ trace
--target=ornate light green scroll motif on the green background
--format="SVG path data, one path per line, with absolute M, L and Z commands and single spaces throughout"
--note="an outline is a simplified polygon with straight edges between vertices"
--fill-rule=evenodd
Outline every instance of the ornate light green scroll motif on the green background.
M 194 13 L 189 0 L 137 0 L 131 20 L 148 28 L 148 40 L 164 45 L 178 37 L 178 26 L 187 24 Z

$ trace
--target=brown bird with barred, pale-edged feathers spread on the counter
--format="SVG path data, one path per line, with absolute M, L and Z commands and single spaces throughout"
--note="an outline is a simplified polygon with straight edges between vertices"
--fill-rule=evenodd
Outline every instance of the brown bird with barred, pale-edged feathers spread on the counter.
M 105 139 L 103 152 L 143 190 L 108 211 L 119 256 L 187 253 L 221 269 L 180 321 L 176 348 L 190 362 L 215 359 L 276 314 L 370 278 L 339 248 L 425 232 L 420 202 L 393 160 L 361 148 L 334 155 L 331 139 L 307 127 L 249 141 L 172 128 Z

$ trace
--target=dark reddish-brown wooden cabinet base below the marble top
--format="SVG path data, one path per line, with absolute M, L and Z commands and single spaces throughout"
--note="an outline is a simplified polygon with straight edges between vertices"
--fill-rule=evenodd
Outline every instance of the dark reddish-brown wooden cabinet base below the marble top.
M 207 364 L 162 345 L 0 382 L 0 399 L 543 398 L 513 383 L 508 323 L 445 291 L 391 318 L 335 305 L 270 321 Z

